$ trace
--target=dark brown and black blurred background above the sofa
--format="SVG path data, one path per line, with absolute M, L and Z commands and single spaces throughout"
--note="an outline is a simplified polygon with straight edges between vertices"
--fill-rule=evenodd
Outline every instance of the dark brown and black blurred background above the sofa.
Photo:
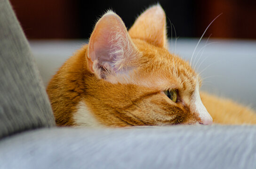
M 10 0 L 29 39 L 89 38 L 97 19 L 112 9 L 128 28 L 150 5 L 160 3 L 177 37 L 256 38 L 256 0 Z M 173 31 L 173 37 L 175 37 Z

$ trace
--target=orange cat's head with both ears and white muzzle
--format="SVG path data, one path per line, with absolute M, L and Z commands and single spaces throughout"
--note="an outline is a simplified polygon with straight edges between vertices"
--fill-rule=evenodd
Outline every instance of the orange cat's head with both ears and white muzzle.
M 199 93 L 200 77 L 168 51 L 166 16 L 160 5 L 142 13 L 127 30 L 108 11 L 88 43 L 89 111 L 108 126 L 211 124 Z

